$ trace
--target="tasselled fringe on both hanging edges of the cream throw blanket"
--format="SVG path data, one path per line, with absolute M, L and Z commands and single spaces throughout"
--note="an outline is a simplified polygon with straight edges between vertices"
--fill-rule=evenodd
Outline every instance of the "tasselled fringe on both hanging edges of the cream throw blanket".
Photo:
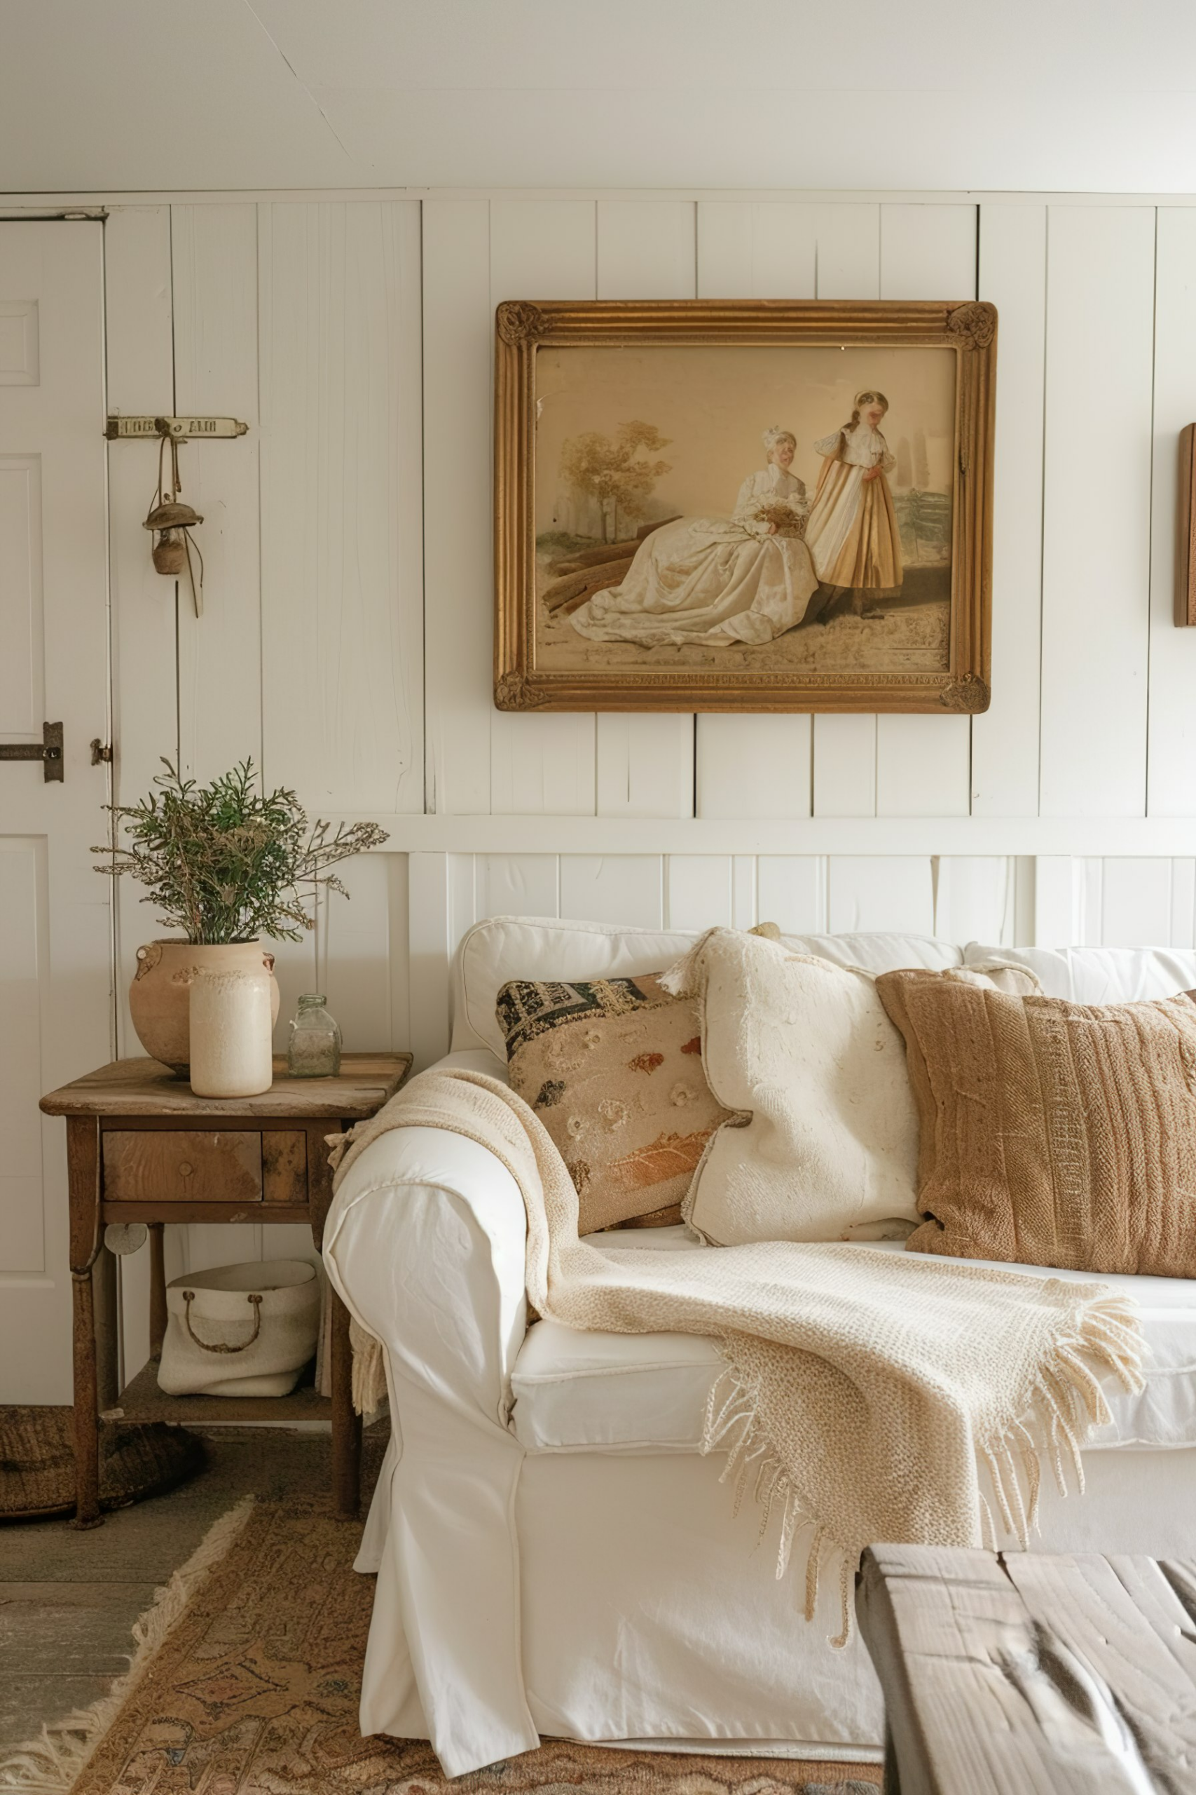
M 805 1619 L 812 1621 L 818 1608 L 823 1556 L 839 1560 L 839 1637 L 830 1644 L 846 1646 L 852 1637 L 852 1580 L 862 1547 L 850 1547 L 809 1511 L 782 1459 L 769 1445 L 758 1416 L 758 1393 L 728 1355 L 726 1370 L 715 1379 L 706 1400 L 701 1450 L 726 1449 L 726 1467 L 721 1483 L 735 1483 L 733 1513 L 742 1504 L 751 1467 L 755 1472 L 755 1502 L 760 1510 L 758 1540 L 764 1540 L 773 1510 L 780 1510 L 780 1540 L 776 1547 L 776 1576 L 784 1578 L 793 1554 L 798 1528 L 810 1528 L 805 1549 Z M 1096 1427 L 1112 1420 L 1105 1391 L 1092 1370 L 1092 1361 L 1112 1371 L 1124 1389 L 1142 1389 L 1142 1330 L 1133 1305 L 1122 1296 L 1103 1296 L 1079 1316 L 1076 1332 L 1060 1341 L 1042 1362 L 1029 1389 L 1024 1413 L 992 1436 L 977 1440 L 977 1459 L 988 1472 L 992 1502 L 977 1492 L 975 1531 L 988 1551 L 997 1551 L 997 1520 L 1006 1535 L 1029 1549 L 1029 1537 L 1038 1526 L 1038 1499 L 1042 1493 L 1042 1459 L 1054 1472 L 1060 1495 L 1067 1495 L 1065 1456 L 1083 1492 L 1081 1447 Z M 993 1515 L 995 1508 L 995 1515 Z M 916 1544 L 916 1542 L 911 1542 Z M 934 1542 L 923 1542 L 934 1544 Z

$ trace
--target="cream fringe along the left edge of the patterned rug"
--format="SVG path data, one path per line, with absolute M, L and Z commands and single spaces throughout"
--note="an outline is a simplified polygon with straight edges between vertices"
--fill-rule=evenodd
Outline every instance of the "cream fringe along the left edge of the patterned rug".
M 183 1617 L 197 1587 L 240 1535 L 253 1513 L 253 1504 L 255 1499 L 246 1495 L 208 1528 L 186 1563 L 179 1565 L 170 1581 L 156 1590 L 154 1605 L 134 1621 L 133 1642 L 136 1650 L 129 1657 L 129 1669 L 99 1702 L 77 1709 L 52 1727 L 43 1727 L 38 1739 L 29 1739 L 5 1757 L 0 1763 L 0 1790 L 20 1790 L 22 1795 L 70 1795 L 127 1696 L 161 1650 L 167 1633 Z

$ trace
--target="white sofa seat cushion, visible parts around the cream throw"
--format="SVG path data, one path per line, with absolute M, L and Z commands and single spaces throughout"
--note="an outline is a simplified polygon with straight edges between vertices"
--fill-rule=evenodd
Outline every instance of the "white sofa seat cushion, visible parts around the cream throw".
M 611 1235 L 597 1235 L 590 1244 L 606 1248 Z M 719 1251 L 703 1248 L 681 1228 L 619 1235 L 619 1248 Z M 900 1253 L 902 1246 L 861 1242 L 857 1251 Z M 1017 1269 L 1031 1278 L 1087 1276 L 1038 1265 Z M 1196 1447 L 1196 1282 L 1137 1276 L 1101 1282 L 1139 1305 L 1146 1384 L 1130 1393 L 1105 1382 L 1114 1422 L 1085 1450 Z M 706 1400 L 723 1370 L 717 1343 L 703 1335 L 579 1334 L 558 1321 L 536 1321 L 511 1377 L 511 1429 L 529 1452 L 698 1452 Z

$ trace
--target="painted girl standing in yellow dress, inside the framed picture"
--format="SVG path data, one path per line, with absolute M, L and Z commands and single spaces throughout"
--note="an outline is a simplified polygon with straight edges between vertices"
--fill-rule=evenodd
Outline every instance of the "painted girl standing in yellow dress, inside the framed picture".
M 866 616 L 866 607 L 880 598 L 898 598 L 904 578 L 893 494 L 884 477 L 895 458 L 879 429 L 888 409 L 884 393 L 857 393 L 850 422 L 814 443 L 825 460 L 805 542 L 823 603 L 848 598 L 855 616 Z

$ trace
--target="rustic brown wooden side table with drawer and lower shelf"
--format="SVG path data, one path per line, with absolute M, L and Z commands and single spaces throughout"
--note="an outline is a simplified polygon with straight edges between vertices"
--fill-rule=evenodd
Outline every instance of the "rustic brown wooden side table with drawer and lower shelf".
M 326 1134 L 375 1115 L 411 1072 L 411 1054 L 344 1054 L 335 1079 L 290 1079 L 274 1061 L 260 1097 L 195 1097 L 156 1059 L 117 1059 L 41 1099 L 66 1116 L 70 1274 L 74 1282 L 77 1528 L 100 1526 L 99 1414 L 219 1425 L 332 1418 L 337 1515 L 357 1515 L 360 1420 L 353 1414 L 350 1318 L 332 1301 L 332 1400 L 167 1397 L 158 1355 L 167 1330 L 163 1222 L 308 1222 L 323 1246 L 332 1201 Z M 108 1222 L 147 1222 L 151 1251 L 149 1364 L 118 1389 L 117 1262 Z

